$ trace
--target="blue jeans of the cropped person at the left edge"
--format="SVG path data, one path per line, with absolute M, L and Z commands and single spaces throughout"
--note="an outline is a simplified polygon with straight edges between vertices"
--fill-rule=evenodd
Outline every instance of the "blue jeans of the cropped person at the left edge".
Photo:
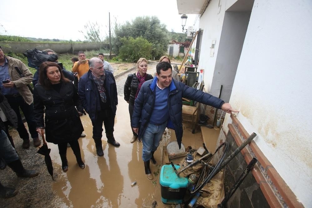
M 15 149 L 11 145 L 9 138 L 7 138 L 7 135 L 3 130 L 1 130 L 0 133 L 0 157 L 6 163 L 18 160 L 18 155 L 16 154 Z

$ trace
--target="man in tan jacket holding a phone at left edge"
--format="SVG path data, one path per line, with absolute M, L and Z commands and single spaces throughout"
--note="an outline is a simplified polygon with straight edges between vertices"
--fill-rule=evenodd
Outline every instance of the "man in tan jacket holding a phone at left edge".
M 22 72 L 22 76 L 17 72 L 17 68 Z M 22 122 L 20 108 L 26 118 L 29 132 L 34 141 L 34 146 L 37 147 L 40 145 L 32 113 L 32 92 L 27 86 L 32 82 L 32 78 L 32 73 L 26 65 L 16 58 L 5 56 L 0 46 L 0 87 L 10 106 L 17 114 L 17 131 L 19 136 L 23 139 L 22 147 L 24 149 L 29 148 L 29 134 Z

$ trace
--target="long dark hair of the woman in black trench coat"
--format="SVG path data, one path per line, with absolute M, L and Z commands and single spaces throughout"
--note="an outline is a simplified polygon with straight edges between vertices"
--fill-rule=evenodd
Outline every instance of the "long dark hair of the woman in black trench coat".
M 39 83 L 42 85 L 42 87 L 44 87 L 45 89 L 51 89 L 52 88 L 52 83 L 50 82 L 50 80 L 47 77 L 47 68 L 49 68 L 49 67 L 57 67 L 58 68 L 58 70 L 61 73 L 60 82 L 70 82 L 69 79 L 64 77 L 64 74 L 62 72 L 62 68 L 59 65 L 57 65 L 54 62 L 43 62 L 39 68 Z

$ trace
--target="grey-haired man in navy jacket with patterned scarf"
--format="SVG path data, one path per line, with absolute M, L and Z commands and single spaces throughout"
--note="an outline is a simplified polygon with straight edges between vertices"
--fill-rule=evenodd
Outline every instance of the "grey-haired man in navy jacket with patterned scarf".
M 113 74 L 104 70 L 101 59 L 95 57 L 90 59 L 89 67 L 90 70 L 79 80 L 78 93 L 82 105 L 92 121 L 93 139 L 97 155 L 103 156 L 103 122 L 107 143 L 120 146 L 113 136 L 116 106 L 118 104 L 117 88 Z

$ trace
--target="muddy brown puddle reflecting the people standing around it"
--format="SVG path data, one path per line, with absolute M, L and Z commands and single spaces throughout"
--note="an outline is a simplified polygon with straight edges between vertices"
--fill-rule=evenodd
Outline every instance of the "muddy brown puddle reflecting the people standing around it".
M 115 118 L 114 137 L 121 146 L 116 148 L 107 144 L 103 132 L 102 144 L 104 156 L 98 157 L 92 139 L 92 124 L 88 116 L 81 120 L 87 136 L 80 138 L 84 170 L 77 165 L 72 150 L 68 148 L 68 171 L 62 172 L 61 159 L 57 145 L 48 144 L 51 151 L 56 180 L 53 190 L 57 197 L 52 206 L 57 207 L 144 207 L 150 206 L 155 192 L 152 181 L 146 179 L 142 155 L 142 143 L 130 143 L 132 131 L 128 104 L 118 97 Z M 161 151 L 156 151 L 156 160 L 161 163 Z M 151 171 L 159 167 L 151 166 Z M 154 178 L 154 183 L 158 177 Z M 136 185 L 131 187 L 131 183 Z

